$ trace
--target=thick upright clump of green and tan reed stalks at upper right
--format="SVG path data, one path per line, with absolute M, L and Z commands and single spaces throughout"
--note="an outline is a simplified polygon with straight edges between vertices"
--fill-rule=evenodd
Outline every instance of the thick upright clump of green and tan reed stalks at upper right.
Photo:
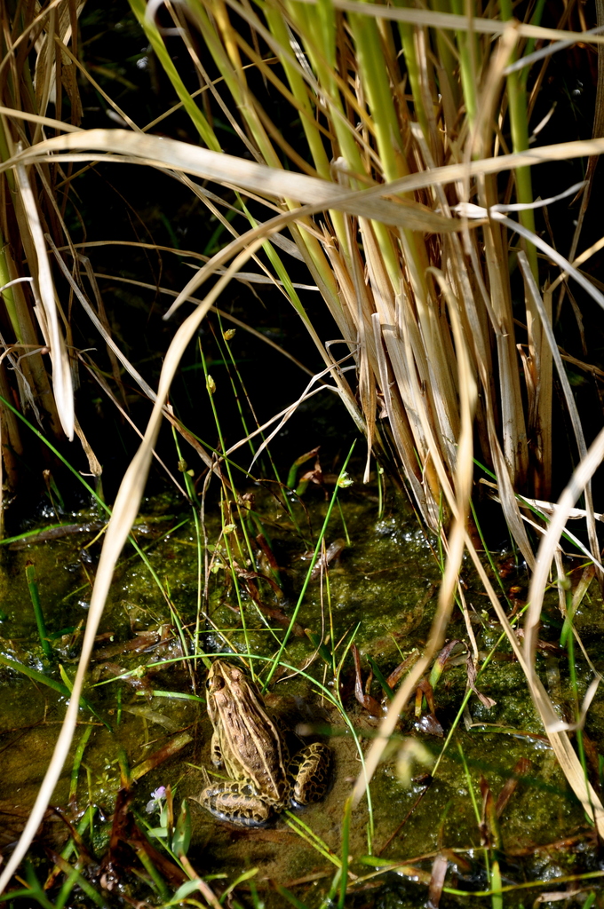
M 182 15 L 185 7 L 187 16 Z M 140 6 L 133 4 L 133 8 L 140 15 Z M 451 43 L 441 19 L 428 11 L 412 15 L 402 7 L 388 13 L 382 10 L 379 17 L 376 7 L 358 7 L 345 15 L 332 7 L 274 5 L 263 10 L 264 18 L 245 5 L 221 9 L 216 15 L 213 7 L 203 3 L 182 4 L 176 5 L 173 17 L 191 52 L 194 38 L 188 37 L 189 20 L 204 36 L 216 71 L 239 105 L 240 114 L 230 108 L 226 113 L 242 146 L 272 168 L 280 167 L 285 156 L 292 168 L 332 186 L 345 186 L 351 194 L 382 185 L 388 188 L 382 188 L 380 196 L 398 201 L 400 217 L 392 222 L 372 217 L 368 208 L 354 214 L 334 208 L 322 213 L 324 220 L 315 229 L 298 218 L 293 230 L 298 250 L 353 351 L 369 446 L 379 450 L 379 400 L 420 511 L 438 531 L 441 498 L 450 507 L 449 494 L 455 487 L 461 420 L 456 361 L 463 346 L 469 375 L 478 381 L 482 398 L 475 415 L 478 442 L 498 476 L 512 532 L 532 564 L 532 550 L 510 493 L 512 488 L 532 488 L 540 489 L 544 497 L 549 494 L 549 347 L 527 297 L 528 356 L 532 369 L 539 362 L 541 381 L 539 388 L 535 383 L 529 386 L 535 389 L 534 397 L 525 411 L 507 267 L 509 225 L 500 225 L 494 218 L 484 220 L 484 209 L 499 201 L 496 175 L 487 172 L 490 167 L 477 168 L 474 180 L 468 171 L 463 184 L 446 191 L 445 185 L 462 176 L 463 168 L 457 172 L 451 168 L 450 176 L 438 174 L 442 183 L 428 174 L 430 169 L 457 165 L 468 157 L 497 155 L 498 105 L 508 107 L 513 151 L 526 150 L 528 68 L 519 75 L 514 71 L 506 76 L 504 71 L 531 46 L 530 29 L 481 20 L 490 26 L 485 32 L 501 35 L 493 46 L 490 35 L 468 32 L 468 23 L 461 20 L 463 31 Z M 230 16 L 234 14 L 245 26 L 233 25 Z M 502 7 L 501 15 L 511 19 L 511 7 Z M 539 17 L 539 10 L 535 16 Z M 531 25 L 538 25 L 537 18 Z M 141 22 L 149 38 L 160 45 L 156 24 L 148 17 L 141 17 Z M 454 22 L 458 20 L 452 18 Z M 248 33 L 256 36 L 253 45 Z M 264 55 L 257 51 L 260 45 L 267 48 Z M 404 55 L 398 55 L 401 46 Z M 280 68 L 272 65 L 268 50 Z M 255 95 L 256 83 L 248 80 L 248 64 L 297 111 L 307 145 L 304 157 L 271 123 L 270 108 L 262 105 Z M 206 68 L 199 64 L 198 72 L 217 99 Z M 406 82 L 410 95 L 404 92 Z M 478 85 L 484 85 L 482 91 Z M 213 135 L 209 147 L 216 147 L 216 142 Z M 512 155 L 492 170 L 513 165 Z M 529 206 L 529 169 L 518 167 L 514 173 L 518 202 Z M 415 196 L 405 192 L 407 186 L 415 189 Z M 376 198 L 372 192 L 362 195 L 366 203 Z M 470 222 L 462 229 L 453 216 L 455 206 L 473 198 L 482 206 L 483 221 L 478 229 Z M 295 203 L 288 199 L 286 205 L 291 209 Z M 429 210 L 440 214 L 430 215 Z M 428 225 L 430 216 L 439 217 L 440 223 L 433 220 Z M 521 225 L 530 231 L 533 220 L 532 209 L 523 208 Z M 429 238 L 428 232 L 432 233 Z M 277 276 L 282 277 L 277 251 L 268 245 L 266 249 Z M 536 272 L 535 246 L 529 245 L 528 251 Z M 187 290 L 205 275 L 202 268 Z M 313 334 L 297 295 L 287 285 L 284 294 Z M 451 310 L 460 321 L 457 339 Z M 314 337 L 327 362 L 324 345 Z M 346 385 L 340 390 L 354 409 Z M 503 427 L 500 435 L 498 425 Z

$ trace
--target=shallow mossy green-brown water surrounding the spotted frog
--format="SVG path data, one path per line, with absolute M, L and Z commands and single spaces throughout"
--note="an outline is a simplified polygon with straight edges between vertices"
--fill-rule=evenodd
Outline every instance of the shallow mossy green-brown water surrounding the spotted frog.
M 309 567 L 308 546 L 317 539 L 327 511 L 324 495 L 312 490 L 305 496 L 304 508 L 293 505 L 296 529 L 283 501 L 260 487 L 249 492 L 255 498 L 247 502 L 257 514 L 255 524 L 247 522 L 248 534 L 254 534 L 250 538 L 255 565 L 239 559 L 238 593 L 236 575 L 228 564 L 229 549 L 232 556 L 243 547 L 238 518 L 221 535 L 218 505 L 206 507 L 209 570 L 204 598 L 205 567 L 198 563 L 195 522 L 186 505 L 169 495 L 147 500 L 136 524 L 136 541 L 146 564 L 128 545 L 116 571 L 86 689 L 96 716 L 86 708 L 80 711 L 76 741 L 52 800 L 72 823 L 78 822 L 88 804 L 96 806 L 94 820 L 85 824 L 82 834 L 89 850 L 86 875 L 107 904 L 121 905 L 125 897 L 135 896 L 148 904 L 167 901 L 142 871 L 132 848 L 122 856 L 123 866 L 114 868 L 119 883 L 106 886 L 104 857 L 106 862 L 111 852 L 112 815 L 128 774 L 132 784 L 126 814 L 136 818 L 139 829 L 159 823 L 157 813 L 146 813 L 146 804 L 159 786 L 171 786 L 176 813 L 182 799 L 187 799 L 192 820 L 188 860 L 196 873 L 218 875 L 210 879 L 216 894 L 256 869 L 237 887 L 240 905 L 255 905 L 255 899 L 266 906 L 287 905 L 284 887 L 309 909 L 324 904 L 330 892 L 337 897 L 334 875 L 341 864 L 345 804 L 361 771 L 361 753 L 377 734 L 379 716 L 372 714 L 382 713 L 386 699 L 375 677 L 365 687 L 371 665 L 387 677 L 404 660 L 410 665 L 413 654 L 428 639 L 440 577 L 435 541 L 418 529 L 403 502 L 391 498 L 384 513 L 378 514 L 376 495 L 356 484 L 340 490 L 341 510 L 336 507 L 331 514 L 326 544 L 344 542 L 332 550 L 338 554 L 328 566 L 327 581 L 319 572 L 308 584 L 282 669 L 267 692 L 267 707 L 284 727 L 302 736 L 320 735 L 329 743 L 335 759 L 330 789 L 323 801 L 281 814 L 264 828 L 242 829 L 216 821 L 196 803 L 205 784 L 204 768 L 211 766 L 206 664 L 216 652 L 251 653 L 257 657 L 253 668 L 259 683 L 266 679 L 266 659 L 276 653 L 296 608 Z M 27 677 L 10 661 L 57 683 L 73 676 L 99 553 L 100 543 L 94 542 L 102 524 L 98 514 L 65 514 L 62 521 L 68 525 L 67 532 L 55 530 L 0 549 L 0 654 L 4 657 L 0 665 L 0 810 L 6 848 L 14 842 L 35 798 L 65 711 L 65 694 L 44 680 Z M 56 522 L 49 519 L 46 524 Z M 261 531 L 264 542 L 258 544 Z M 345 544 L 347 534 L 349 544 Z M 520 569 L 510 568 L 508 555 L 496 557 L 496 563 L 502 598 L 511 590 L 509 612 L 521 603 L 526 578 Z M 52 644 L 50 656 L 39 645 L 26 564 L 35 565 Z M 435 716 L 429 715 L 432 712 L 421 696 L 408 706 L 372 781 L 370 803 L 363 799 L 352 814 L 346 905 L 427 904 L 430 875 L 438 862 L 448 869 L 444 891 L 437 888 L 441 906 L 490 904 L 488 875 L 493 863 L 498 863 L 502 886 L 511 888 L 505 893 L 506 904 L 532 904 L 543 892 L 566 888 L 577 890 L 569 899 L 581 903 L 586 894 L 598 890 L 598 877 L 577 885 L 557 883 L 569 875 L 599 872 L 598 851 L 585 814 L 570 794 L 544 737 L 518 663 L 508 644 L 498 644 L 500 628 L 488 600 L 469 566 L 464 572 L 470 624 L 481 660 L 497 645 L 476 683 L 490 701 L 481 703 L 477 694 L 471 694 L 465 713 L 458 715 L 467 689 L 468 629 L 456 608 L 448 642 L 459 643 L 451 650 L 444 672 L 433 680 Z M 206 609 L 201 617 L 199 602 Z M 602 662 L 599 644 L 594 643 L 599 642 L 599 614 L 601 605 L 594 593 L 577 617 L 597 668 Z M 561 620 L 553 594 L 544 615 L 541 634 L 547 646 L 543 644 L 539 655 L 539 670 L 560 714 L 568 714 L 574 695 L 567 654 L 558 646 Z M 198 656 L 193 659 L 196 629 Z M 324 645 L 319 649 L 321 635 Z M 335 648 L 330 642 L 336 642 Z M 357 646 L 360 660 L 363 690 L 359 694 L 373 699 L 365 704 L 355 697 L 351 644 Z M 577 691 L 582 697 L 590 674 L 579 658 L 576 665 Z M 293 674 L 286 666 L 304 668 L 305 674 L 286 677 Z M 584 747 L 597 786 L 603 717 L 596 695 Z M 174 754 L 162 750 L 170 743 Z M 401 778 L 401 754 L 409 743 L 422 749 L 415 753 L 406 782 Z M 78 744 L 84 748 L 76 759 Z M 430 776 L 437 759 L 437 769 Z M 120 807 L 119 811 L 126 810 Z M 133 836 L 133 828 L 129 829 Z M 31 851 L 40 880 L 44 881 L 49 867 L 44 848 L 58 849 L 68 837 L 65 824 L 49 814 Z M 115 863 L 116 854 L 112 856 Z M 535 884 L 534 889 L 530 884 Z M 167 888 L 169 896 L 177 882 L 170 880 Z M 430 893 L 434 897 L 437 891 Z M 72 904 L 88 904 L 86 896 L 78 897 L 76 891 Z

